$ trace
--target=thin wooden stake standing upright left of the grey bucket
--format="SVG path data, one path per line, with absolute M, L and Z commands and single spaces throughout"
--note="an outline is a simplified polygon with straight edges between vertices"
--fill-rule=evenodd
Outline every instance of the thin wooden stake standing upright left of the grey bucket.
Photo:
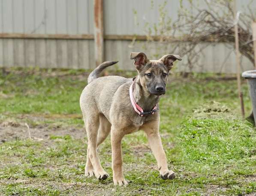
M 241 92 L 241 70 L 240 70 L 240 52 L 239 52 L 239 37 L 238 37 L 238 18 L 236 18 L 236 0 L 234 0 L 234 20 L 235 20 L 235 57 L 236 57 L 236 77 L 237 77 L 237 86 L 238 86 L 238 96 L 240 99 L 241 105 L 241 114 L 244 118 L 244 101 L 243 93 Z

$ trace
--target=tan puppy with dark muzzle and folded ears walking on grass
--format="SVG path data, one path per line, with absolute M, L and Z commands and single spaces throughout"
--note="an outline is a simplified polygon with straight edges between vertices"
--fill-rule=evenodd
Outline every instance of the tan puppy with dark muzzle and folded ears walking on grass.
M 166 92 L 169 71 L 178 55 L 168 54 L 159 60 L 148 60 L 145 53 L 132 52 L 131 59 L 139 75 L 133 85 L 133 96 L 144 111 L 151 111 L 158 104 L 160 95 Z M 97 154 L 97 146 L 111 133 L 112 170 L 115 185 L 127 185 L 122 169 L 121 140 L 124 135 L 143 130 L 157 159 L 160 175 L 163 179 L 174 179 L 175 173 L 168 169 L 166 154 L 163 150 L 160 134 L 160 112 L 139 116 L 135 112 L 129 96 L 133 79 L 120 76 L 99 77 L 100 72 L 116 62 L 103 62 L 88 77 L 88 85 L 80 97 L 87 131 L 88 147 L 85 175 L 95 175 L 99 180 L 108 178 Z

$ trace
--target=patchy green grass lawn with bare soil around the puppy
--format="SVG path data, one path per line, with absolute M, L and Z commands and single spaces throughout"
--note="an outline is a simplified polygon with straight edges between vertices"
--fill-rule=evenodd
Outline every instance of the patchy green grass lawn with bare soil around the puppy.
M 0 194 L 255 195 L 256 131 L 239 115 L 236 81 L 222 77 L 170 78 L 160 101 L 160 134 L 177 178 L 160 178 L 147 138 L 139 131 L 122 142 L 124 175 L 130 183 L 114 187 L 109 138 L 99 146 L 99 157 L 110 178 L 84 176 L 87 140 L 78 100 L 87 74 L 34 69 L 0 74 L 0 131 L 6 138 L 0 143 Z M 242 89 L 249 113 L 245 81 Z M 24 123 L 31 134 L 38 131 L 36 137 L 21 134 Z M 74 130 L 66 131 L 70 128 Z

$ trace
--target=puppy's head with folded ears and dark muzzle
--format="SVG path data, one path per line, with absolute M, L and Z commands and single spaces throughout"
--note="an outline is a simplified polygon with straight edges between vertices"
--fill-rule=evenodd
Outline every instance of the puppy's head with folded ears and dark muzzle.
M 175 60 L 181 60 L 179 55 L 167 54 L 158 60 L 149 60 L 143 52 L 132 52 L 131 59 L 139 72 L 141 85 L 150 94 L 163 95 L 166 93 L 166 83 L 169 71 Z

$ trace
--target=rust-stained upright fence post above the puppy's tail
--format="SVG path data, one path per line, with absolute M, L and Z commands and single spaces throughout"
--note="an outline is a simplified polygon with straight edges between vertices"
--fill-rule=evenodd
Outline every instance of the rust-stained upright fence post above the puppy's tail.
M 104 60 L 103 0 L 94 0 L 94 56 L 99 65 Z

